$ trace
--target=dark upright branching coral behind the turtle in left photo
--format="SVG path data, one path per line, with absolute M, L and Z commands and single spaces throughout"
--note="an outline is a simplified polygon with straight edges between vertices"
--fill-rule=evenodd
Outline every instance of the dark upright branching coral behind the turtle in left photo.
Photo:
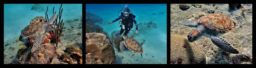
M 61 9 L 61 11 L 60 11 L 60 9 Z M 53 23 L 56 25 L 57 28 L 56 28 L 55 30 L 53 30 L 53 31 L 49 31 L 50 34 L 54 35 L 54 36 L 52 36 L 52 37 L 54 38 L 54 40 L 55 40 L 55 42 L 56 42 L 56 47 L 58 47 L 58 42 L 60 41 L 59 38 L 60 38 L 60 36 L 61 36 L 61 34 L 62 34 L 62 32 L 63 32 L 63 26 L 64 26 L 64 23 L 62 23 L 62 22 L 63 22 L 63 19 L 61 19 L 61 17 L 62 17 L 62 11 L 63 11 L 62 4 L 60 5 L 60 9 L 59 9 L 59 15 L 57 15 L 55 21 L 53 22 Z M 47 6 L 46 13 L 45 13 L 45 18 L 46 18 L 46 16 L 47 16 L 46 21 L 49 20 L 49 19 L 48 19 L 47 11 L 48 11 L 48 6 Z M 53 13 L 54 13 L 54 7 L 53 7 Z M 56 14 L 56 11 L 55 11 L 54 14 Z M 58 19 L 59 19 L 59 21 L 58 21 Z M 60 20 L 61 20 L 61 21 L 60 21 Z

